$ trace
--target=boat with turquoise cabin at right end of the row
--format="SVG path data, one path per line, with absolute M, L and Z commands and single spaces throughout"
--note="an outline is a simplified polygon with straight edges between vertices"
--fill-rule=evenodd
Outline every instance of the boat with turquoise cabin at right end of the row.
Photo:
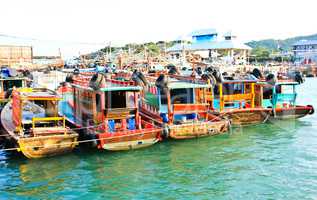
M 274 84 L 268 82 L 258 83 L 262 94 L 262 106 L 272 109 L 271 118 L 294 119 L 314 113 L 311 105 L 302 106 L 296 104 L 298 82 L 278 81 Z

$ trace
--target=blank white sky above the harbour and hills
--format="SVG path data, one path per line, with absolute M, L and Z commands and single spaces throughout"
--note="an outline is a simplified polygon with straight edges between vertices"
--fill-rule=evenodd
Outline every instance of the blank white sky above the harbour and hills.
M 173 40 L 204 28 L 244 42 L 284 39 L 317 33 L 316 8 L 316 0 L 1 0 L 0 44 L 78 56 L 109 42 Z

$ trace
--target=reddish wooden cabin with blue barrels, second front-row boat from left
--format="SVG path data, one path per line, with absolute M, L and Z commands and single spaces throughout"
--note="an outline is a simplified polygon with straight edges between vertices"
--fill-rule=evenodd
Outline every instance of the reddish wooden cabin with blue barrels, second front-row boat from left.
M 72 87 L 72 96 L 63 102 L 61 110 L 76 126 L 93 127 L 94 132 L 117 132 L 135 130 L 141 123 L 137 109 L 141 87 L 113 82 L 98 90 L 78 84 Z

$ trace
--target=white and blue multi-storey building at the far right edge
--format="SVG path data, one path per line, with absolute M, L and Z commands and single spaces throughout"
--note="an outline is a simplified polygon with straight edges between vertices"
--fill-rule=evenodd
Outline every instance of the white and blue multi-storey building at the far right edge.
M 301 40 L 293 44 L 295 63 L 311 64 L 317 62 L 317 40 Z

